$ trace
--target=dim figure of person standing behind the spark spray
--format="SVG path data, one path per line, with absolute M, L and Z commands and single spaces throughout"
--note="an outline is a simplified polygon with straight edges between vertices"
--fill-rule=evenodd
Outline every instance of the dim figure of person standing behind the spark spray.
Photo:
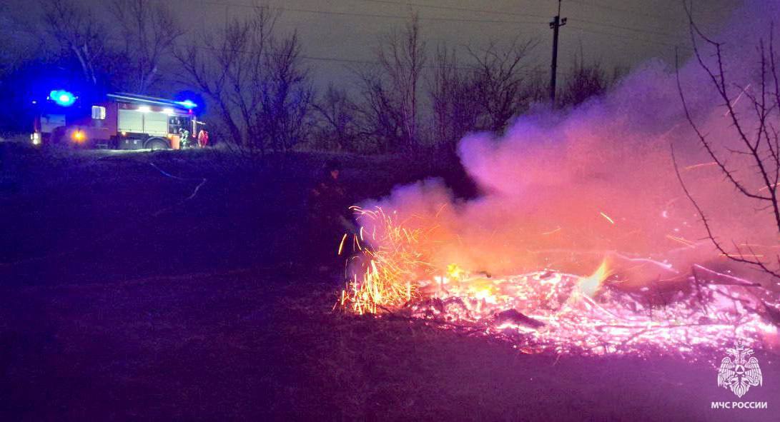
M 322 168 L 314 188 L 309 191 L 310 253 L 321 258 L 321 269 L 329 269 L 335 264 L 335 249 L 339 239 L 354 232 L 347 202 L 346 192 L 339 180 L 341 166 L 336 160 L 330 160 Z M 323 258 L 330 257 L 327 260 Z

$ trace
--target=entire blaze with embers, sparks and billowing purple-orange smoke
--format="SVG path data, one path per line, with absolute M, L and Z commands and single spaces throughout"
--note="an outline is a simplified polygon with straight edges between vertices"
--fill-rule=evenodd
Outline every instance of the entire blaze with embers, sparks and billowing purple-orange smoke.
M 775 345 L 777 55 L 771 33 L 743 27 L 725 36 L 757 48 L 692 23 L 693 59 L 676 72 L 650 64 L 600 100 L 466 136 L 476 199 L 427 180 L 356 208 L 339 306 L 527 353 Z

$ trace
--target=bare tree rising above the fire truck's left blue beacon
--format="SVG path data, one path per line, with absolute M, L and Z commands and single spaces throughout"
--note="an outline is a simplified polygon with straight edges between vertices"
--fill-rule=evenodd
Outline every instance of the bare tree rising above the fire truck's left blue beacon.
M 83 79 L 97 85 L 109 55 L 105 26 L 92 9 L 72 0 L 44 0 L 43 13 L 45 31 L 63 53 L 76 58 Z

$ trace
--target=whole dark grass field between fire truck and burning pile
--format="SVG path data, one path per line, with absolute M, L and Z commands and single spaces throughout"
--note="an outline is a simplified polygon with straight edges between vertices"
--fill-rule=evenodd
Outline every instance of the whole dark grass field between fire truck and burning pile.
M 723 353 L 526 355 L 333 312 L 338 271 L 303 258 L 330 156 L 3 148 L 0 420 L 777 420 L 769 354 L 743 397 L 768 410 L 711 410 L 736 399 Z M 445 159 L 340 158 L 355 202 L 429 175 L 473 194 Z

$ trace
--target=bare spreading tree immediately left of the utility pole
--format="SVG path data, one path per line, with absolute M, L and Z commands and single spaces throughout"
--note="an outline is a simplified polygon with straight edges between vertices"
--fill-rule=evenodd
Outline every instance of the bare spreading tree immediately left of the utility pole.
M 496 41 L 491 41 L 481 50 L 467 48 L 474 61 L 473 90 L 482 111 L 482 118 L 477 122 L 479 128 L 502 132 L 509 120 L 530 104 L 524 62 L 532 47 L 532 41 L 515 41 L 502 50 Z

